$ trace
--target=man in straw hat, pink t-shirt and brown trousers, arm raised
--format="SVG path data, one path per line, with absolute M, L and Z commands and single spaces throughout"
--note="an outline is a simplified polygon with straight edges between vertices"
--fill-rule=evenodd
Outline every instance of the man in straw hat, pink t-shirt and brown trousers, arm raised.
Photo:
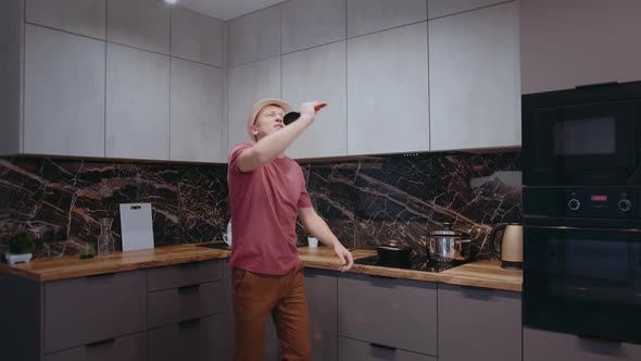
M 296 221 L 334 249 L 340 270 L 353 265 L 312 207 L 300 165 L 285 150 L 312 123 L 316 102 L 300 107 L 298 121 L 285 125 L 291 105 L 280 99 L 255 103 L 247 128 L 254 145 L 229 152 L 229 208 L 234 242 L 229 266 L 236 344 L 234 360 L 262 360 L 265 324 L 274 319 L 282 360 L 310 360 L 310 319 L 298 258 Z

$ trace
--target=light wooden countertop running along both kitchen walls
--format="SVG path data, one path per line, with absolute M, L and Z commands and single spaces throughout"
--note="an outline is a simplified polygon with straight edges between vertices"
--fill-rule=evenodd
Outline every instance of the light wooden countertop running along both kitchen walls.
M 338 259 L 334 257 L 334 252 L 327 247 L 299 248 L 299 254 L 301 262 L 307 267 L 332 271 L 339 269 Z M 354 250 L 352 254 L 354 258 L 363 258 L 376 254 L 376 251 Z M 48 282 L 194 261 L 224 259 L 228 256 L 229 251 L 226 250 L 188 244 L 139 251 L 116 252 L 108 257 L 96 257 L 88 260 L 81 260 L 78 257 L 62 257 L 33 260 L 28 263 L 13 265 L 0 264 L 0 272 L 28 277 L 37 282 Z M 354 264 L 350 272 L 520 291 L 523 272 L 504 270 L 499 264 L 499 261 L 476 261 L 439 273 Z

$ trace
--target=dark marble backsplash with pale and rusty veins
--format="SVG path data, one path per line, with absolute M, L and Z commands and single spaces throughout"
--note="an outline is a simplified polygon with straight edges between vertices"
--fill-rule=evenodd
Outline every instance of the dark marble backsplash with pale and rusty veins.
M 425 252 L 443 222 L 493 258 L 493 225 L 520 222 L 520 153 L 425 153 L 303 162 L 318 213 L 345 245 L 404 241 Z M 75 254 L 120 203 L 150 202 L 155 246 L 219 239 L 229 217 L 225 164 L 0 158 L 0 237 L 38 231 L 36 258 Z M 304 242 L 304 233 L 299 229 Z M 0 246 L 2 247 L 2 246 Z M 1 251 L 1 249 L 0 249 Z

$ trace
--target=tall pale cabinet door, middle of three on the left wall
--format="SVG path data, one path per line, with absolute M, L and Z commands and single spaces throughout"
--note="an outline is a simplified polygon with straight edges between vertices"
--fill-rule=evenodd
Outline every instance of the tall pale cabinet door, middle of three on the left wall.
M 106 48 L 106 157 L 169 158 L 169 58 Z

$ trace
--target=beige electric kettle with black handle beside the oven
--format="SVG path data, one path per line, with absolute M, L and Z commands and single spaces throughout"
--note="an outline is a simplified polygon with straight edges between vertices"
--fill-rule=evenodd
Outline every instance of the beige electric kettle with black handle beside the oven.
M 503 231 L 503 237 L 497 240 L 497 233 Z M 499 245 L 499 246 L 498 246 Z M 501 258 L 501 267 L 523 270 L 523 226 L 514 223 L 499 223 L 490 233 L 492 252 Z

